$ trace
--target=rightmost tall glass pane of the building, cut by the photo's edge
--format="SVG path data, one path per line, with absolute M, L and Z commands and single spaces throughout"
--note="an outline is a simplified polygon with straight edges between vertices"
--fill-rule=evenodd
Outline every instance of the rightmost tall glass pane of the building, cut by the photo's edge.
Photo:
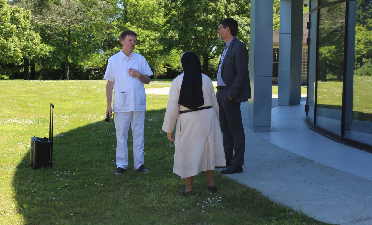
M 349 10 L 344 137 L 372 145 L 372 1 L 350 2 Z

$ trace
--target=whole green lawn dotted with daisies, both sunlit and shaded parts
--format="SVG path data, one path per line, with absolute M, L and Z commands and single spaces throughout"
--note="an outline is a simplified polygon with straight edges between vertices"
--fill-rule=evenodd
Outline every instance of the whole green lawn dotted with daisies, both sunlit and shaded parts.
M 128 170 L 114 175 L 115 128 L 105 122 L 104 81 L 2 80 L 0 88 L 1 224 L 324 224 L 218 172 L 217 194 L 201 173 L 196 194 L 180 196 L 185 184 L 172 172 L 174 147 L 161 131 L 166 95 L 147 96 L 150 173 L 132 169 L 129 138 Z M 54 165 L 34 170 L 30 138 L 48 136 L 49 103 Z

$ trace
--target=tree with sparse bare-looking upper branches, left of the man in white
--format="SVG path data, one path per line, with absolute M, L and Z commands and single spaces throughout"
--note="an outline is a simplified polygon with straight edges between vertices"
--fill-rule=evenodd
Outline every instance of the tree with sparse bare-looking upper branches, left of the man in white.
M 70 63 L 96 58 L 99 43 L 110 35 L 110 16 L 115 0 L 17 0 L 17 4 L 32 10 L 32 22 L 43 41 L 52 47 L 48 67 L 64 67 L 64 79 L 69 79 Z M 93 55 L 93 57 L 92 57 Z

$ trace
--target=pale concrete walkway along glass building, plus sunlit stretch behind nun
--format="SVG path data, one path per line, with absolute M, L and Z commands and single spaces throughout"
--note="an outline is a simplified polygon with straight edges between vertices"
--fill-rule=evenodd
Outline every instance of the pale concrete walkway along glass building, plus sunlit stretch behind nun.
M 169 88 L 146 89 L 146 94 L 169 94 Z M 309 129 L 301 99 L 299 105 L 278 106 L 273 95 L 267 133 L 250 128 L 248 102 L 241 104 L 244 172 L 226 176 L 319 221 L 372 225 L 372 153 Z

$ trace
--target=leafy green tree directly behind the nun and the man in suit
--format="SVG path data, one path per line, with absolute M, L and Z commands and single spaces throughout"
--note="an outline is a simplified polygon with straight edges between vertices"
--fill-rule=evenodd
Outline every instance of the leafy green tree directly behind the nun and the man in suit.
M 248 45 L 250 1 L 162 0 L 160 4 L 167 15 L 161 40 L 164 49 L 193 51 L 201 58 L 202 72 L 206 75 L 209 61 L 222 52 L 217 33 L 221 19 L 235 18 L 239 23 L 238 38 Z

